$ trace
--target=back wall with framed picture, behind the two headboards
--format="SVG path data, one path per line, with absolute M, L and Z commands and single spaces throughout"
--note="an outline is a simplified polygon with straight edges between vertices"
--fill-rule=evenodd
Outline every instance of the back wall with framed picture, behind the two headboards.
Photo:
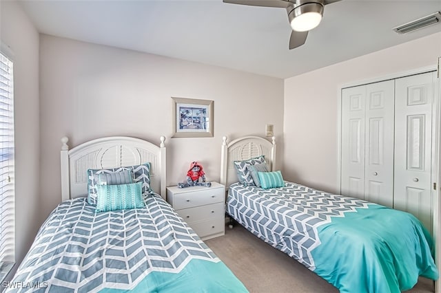
M 223 135 L 283 135 L 283 80 L 41 35 L 41 221 L 60 202 L 60 138 L 70 146 L 107 135 L 167 145 L 167 185 L 200 161 L 220 178 Z M 214 138 L 170 138 L 172 98 L 214 100 Z

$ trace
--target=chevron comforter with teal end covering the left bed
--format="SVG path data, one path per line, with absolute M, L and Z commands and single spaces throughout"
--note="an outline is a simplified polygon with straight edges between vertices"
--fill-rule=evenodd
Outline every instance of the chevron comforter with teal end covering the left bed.
M 7 291 L 247 292 L 167 202 L 145 204 L 95 213 L 85 198 L 61 203 Z

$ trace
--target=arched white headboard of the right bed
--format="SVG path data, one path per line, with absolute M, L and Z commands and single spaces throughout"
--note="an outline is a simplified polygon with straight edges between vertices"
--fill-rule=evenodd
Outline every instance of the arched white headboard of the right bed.
M 222 155 L 220 157 L 220 184 L 228 188 L 234 182 L 238 182 L 234 161 L 249 160 L 259 155 L 265 155 L 270 171 L 276 170 L 276 138 L 272 142 L 258 136 L 244 136 L 229 142 L 223 137 Z

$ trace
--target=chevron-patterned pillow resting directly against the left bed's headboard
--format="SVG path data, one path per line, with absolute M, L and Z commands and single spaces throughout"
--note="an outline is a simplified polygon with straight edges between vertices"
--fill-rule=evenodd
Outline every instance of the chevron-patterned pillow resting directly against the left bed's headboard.
M 150 163 L 145 163 L 136 166 L 125 166 L 113 169 L 89 169 L 88 170 L 88 203 L 96 204 L 96 175 L 101 173 L 120 173 L 123 171 L 131 171 L 134 175 L 134 180 L 131 182 L 121 182 L 121 183 L 132 183 L 132 182 L 143 182 L 143 193 L 152 193 L 152 188 L 150 187 Z M 117 183 L 116 183 L 117 184 Z M 109 184 L 107 182 L 107 185 Z

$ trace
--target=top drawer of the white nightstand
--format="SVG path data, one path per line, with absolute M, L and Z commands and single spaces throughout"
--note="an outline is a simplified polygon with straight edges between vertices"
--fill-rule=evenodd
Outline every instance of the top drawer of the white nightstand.
M 183 208 L 192 208 L 194 206 L 203 206 L 223 202 L 225 193 L 223 188 L 209 188 L 192 193 L 178 193 L 174 195 L 173 208 L 181 210 Z

